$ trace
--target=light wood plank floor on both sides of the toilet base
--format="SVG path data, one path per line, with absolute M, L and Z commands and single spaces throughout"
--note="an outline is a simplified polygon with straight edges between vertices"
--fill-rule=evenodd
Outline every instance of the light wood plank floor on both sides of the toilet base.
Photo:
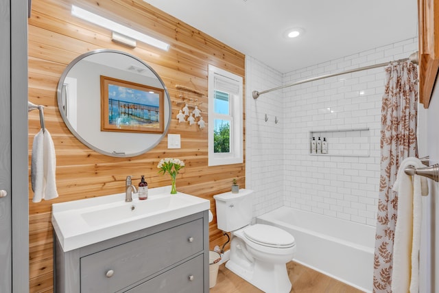
M 293 285 L 290 293 L 362 292 L 294 261 L 287 263 L 287 270 Z M 238 277 L 228 270 L 223 263 L 219 266 L 217 284 L 211 288 L 210 293 L 263 293 L 263 291 Z

